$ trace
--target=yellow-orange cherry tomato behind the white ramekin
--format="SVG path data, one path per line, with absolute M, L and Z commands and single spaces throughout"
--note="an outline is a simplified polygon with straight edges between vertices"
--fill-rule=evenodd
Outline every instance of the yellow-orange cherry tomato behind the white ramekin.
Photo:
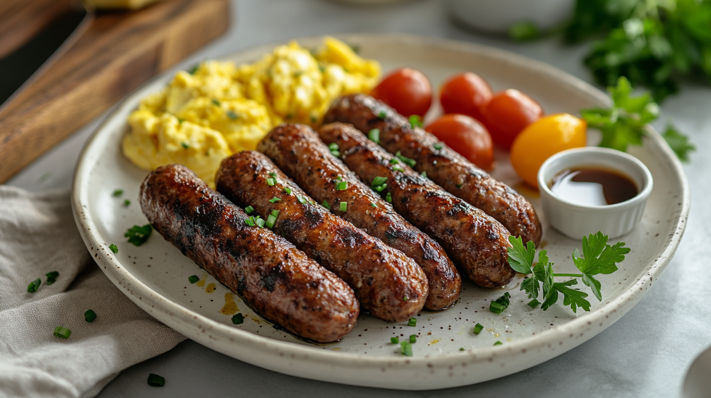
M 528 125 L 511 146 L 511 166 L 523 181 L 538 187 L 538 169 L 547 158 L 586 143 L 587 123 L 572 114 L 542 117 Z

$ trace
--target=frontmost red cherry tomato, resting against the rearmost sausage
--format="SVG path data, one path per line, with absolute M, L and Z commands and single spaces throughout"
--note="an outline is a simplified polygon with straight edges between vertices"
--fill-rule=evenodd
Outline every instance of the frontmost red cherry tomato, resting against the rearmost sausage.
M 485 170 L 493 163 L 493 146 L 486 127 L 464 114 L 445 114 L 424 128 Z

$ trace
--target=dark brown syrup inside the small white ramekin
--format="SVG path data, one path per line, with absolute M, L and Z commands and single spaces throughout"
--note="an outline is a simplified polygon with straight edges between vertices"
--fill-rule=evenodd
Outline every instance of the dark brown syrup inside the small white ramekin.
M 550 190 L 579 205 L 604 206 L 634 198 L 637 185 L 618 171 L 605 168 L 569 168 L 553 177 Z

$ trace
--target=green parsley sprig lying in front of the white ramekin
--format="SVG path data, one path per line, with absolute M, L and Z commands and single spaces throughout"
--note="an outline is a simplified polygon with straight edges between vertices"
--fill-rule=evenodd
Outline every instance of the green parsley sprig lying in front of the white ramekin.
M 574 249 L 572 254 L 573 263 L 579 269 L 580 274 L 555 274 L 553 263 L 548 259 L 547 250 L 538 252 L 538 263 L 534 265 L 535 244 L 528 242 L 524 246 L 520 237 L 508 237 L 508 241 L 511 243 L 511 247 L 508 248 L 508 264 L 516 272 L 531 275 L 521 282 L 520 290 L 525 291 L 528 298 L 534 299 L 532 307 L 538 305 L 537 298 L 542 292 L 541 308 L 543 311 L 558 301 L 559 294 L 563 296 L 563 305 L 570 306 L 573 312 L 577 312 L 578 307 L 590 311 L 590 302 L 585 299 L 588 294 L 570 288 L 570 286 L 577 284 L 577 279 L 556 282 L 554 278 L 556 276 L 580 278 L 584 284 L 589 286 L 595 297 L 602 301 L 600 292 L 602 285 L 594 278 L 594 275 L 611 274 L 617 271 L 617 263 L 624 261 L 625 254 L 630 252 L 629 247 L 624 247 L 623 242 L 609 245 L 607 244 L 608 239 L 609 237 L 602 235 L 602 232 L 582 238 L 582 257 L 577 249 Z

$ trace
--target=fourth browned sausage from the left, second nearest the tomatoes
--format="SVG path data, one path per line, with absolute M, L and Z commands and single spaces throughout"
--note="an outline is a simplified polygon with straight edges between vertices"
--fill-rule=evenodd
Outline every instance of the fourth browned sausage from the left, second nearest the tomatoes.
M 386 177 L 392 207 L 437 240 L 454 264 L 483 287 L 508 284 L 515 271 L 508 265 L 508 231 L 483 211 L 456 198 L 402 162 L 391 163 L 388 154 L 350 124 L 326 124 L 319 136 L 327 144 L 336 143 L 346 166 L 361 180 Z

